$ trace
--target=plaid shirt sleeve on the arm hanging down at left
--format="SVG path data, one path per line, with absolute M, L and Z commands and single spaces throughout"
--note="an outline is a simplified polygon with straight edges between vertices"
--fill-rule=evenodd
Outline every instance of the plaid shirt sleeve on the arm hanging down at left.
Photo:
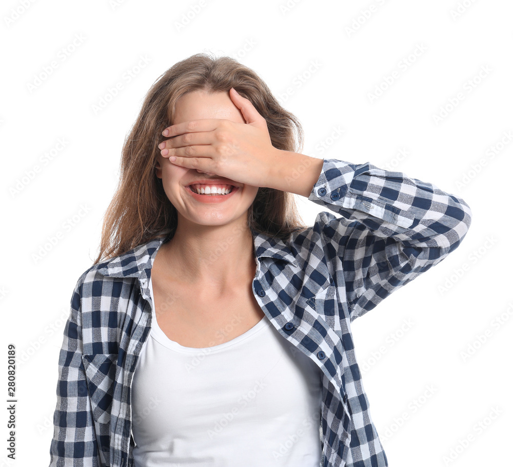
M 100 467 L 91 401 L 82 362 L 82 276 L 71 298 L 70 316 L 58 362 L 57 405 L 53 416 L 50 467 Z

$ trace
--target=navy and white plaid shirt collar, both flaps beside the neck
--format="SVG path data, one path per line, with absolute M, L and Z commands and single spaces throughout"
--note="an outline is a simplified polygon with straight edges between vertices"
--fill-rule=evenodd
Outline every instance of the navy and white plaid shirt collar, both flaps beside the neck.
M 268 237 L 253 229 L 253 244 L 258 259 L 263 256 L 283 259 L 298 266 L 298 261 L 290 248 L 280 238 Z M 115 256 L 104 263 L 98 264 L 97 272 L 109 277 L 139 277 L 149 278 L 156 252 L 167 236 L 155 238 L 128 250 L 122 255 Z

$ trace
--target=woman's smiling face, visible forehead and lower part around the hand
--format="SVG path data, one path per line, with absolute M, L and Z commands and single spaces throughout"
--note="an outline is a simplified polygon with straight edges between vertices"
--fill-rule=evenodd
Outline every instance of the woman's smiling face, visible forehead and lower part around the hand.
M 176 102 L 173 124 L 203 118 L 245 123 L 241 111 L 233 104 L 228 92 L 208 94 L 205 91 L 194 91 Z M 258 186 L 239 183 L 199 169 L 174 165 L 169 157 L 160 155 L 156 176 L 162 178 L 164 191 L 176 208 L 179 225 L 184 223 L 181 218 L 185 218 L 195 224 L 220 226 L 236 219 L 240 221 L 241 216 L 245 225 L 247 210 L 258 191 Z M 220 179 L 220 183 L 214 182 L 216 179 Z M 194 195 L 189 188 L 192 183 L 201 183 L 202 186 L 231 184 L 234 188 L 229 195 Z

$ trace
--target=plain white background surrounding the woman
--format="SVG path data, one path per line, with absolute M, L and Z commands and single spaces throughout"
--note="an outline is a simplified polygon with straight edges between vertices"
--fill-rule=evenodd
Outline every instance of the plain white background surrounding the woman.
M 390 465 L 510 462 L 513 143 L 505 135 L 513 131 L 513 4 L 286 5 L 2 4 L 1 332 L 5 356 L 13 343 L 18 357 L 17 458 L 6 458 L 4 410 L 2 465 L 49 463 L 71 294 L 96 257 L 124 137 L 153 82 L 201 51 L 230 55 L 260 74 L 302 122 L 303 154 L 370 161 L 469 204 L 472 226 L 461 246 L 355 321 L 354 340 Z M 57 66 L 45 77 L 52 61 Z M 394 71 L 393 83 L 371 99 Z M 123 89 L 112 97 L 119 82 Z M 464 99 L 451 108 L 458 93 Z M 102 99 L 108 104 L 95 111 Z M 437 122 L 442 107 L 447 114 Z M 330 139 L 336 129 L 341 134 Z M 56 151 L 60 140 L 65 147 Z M 322 207 L 298 200 L 313 222 Z M 62 238 L 48 247 L 58 232 Z

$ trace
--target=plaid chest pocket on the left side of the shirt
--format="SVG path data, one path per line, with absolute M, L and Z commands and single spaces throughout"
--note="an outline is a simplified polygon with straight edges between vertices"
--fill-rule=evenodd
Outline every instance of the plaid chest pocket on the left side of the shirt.
M 117 353 L 97 353 L 82 356 L 92 417 L 96 423 L 110 423 L 117 355 Z

